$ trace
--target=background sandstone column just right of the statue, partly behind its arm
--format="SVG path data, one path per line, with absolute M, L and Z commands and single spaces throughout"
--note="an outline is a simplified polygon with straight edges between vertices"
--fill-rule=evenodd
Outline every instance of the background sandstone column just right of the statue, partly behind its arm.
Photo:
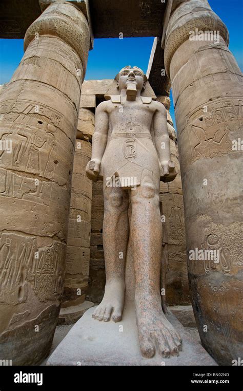
M 161 221 L 163 225 L 163 262 L 167 263 L 166 302 L 168 305 L 187 305 L 190 303 L 186 234 L 184 221 L 183 191 L 177 147 L 177 135 L 170 116 L 170 98 L 157 96 L 157 101 L 167 109 L 168 133 L 170 137 L 171 159 L 175 163 L 177 176 L 173 182 L 160 182 Z M 165 268 L 161 271 L 165 273 Z

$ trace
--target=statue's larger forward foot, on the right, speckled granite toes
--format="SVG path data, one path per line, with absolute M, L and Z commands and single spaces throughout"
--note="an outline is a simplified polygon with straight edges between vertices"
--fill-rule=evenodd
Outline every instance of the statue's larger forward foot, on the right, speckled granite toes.
M 136 320 L 141 354 L 151 358 L 157 350 L 162 357 L 178 356 L 182 340 L 166 319 L 156 300 L 136 300 Z

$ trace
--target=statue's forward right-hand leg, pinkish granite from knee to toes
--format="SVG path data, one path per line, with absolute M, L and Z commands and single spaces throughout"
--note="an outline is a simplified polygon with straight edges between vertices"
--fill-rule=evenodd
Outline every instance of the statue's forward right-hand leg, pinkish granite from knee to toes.
M 162 226 L 159 180 L 144 176 L 131 190 L 131 235 L 135 269 L 135 305 L 141 353 L 150 358 L 155 349 L 163 357 L 178 355 L 181 338 L 161 309 L 159 291 Z

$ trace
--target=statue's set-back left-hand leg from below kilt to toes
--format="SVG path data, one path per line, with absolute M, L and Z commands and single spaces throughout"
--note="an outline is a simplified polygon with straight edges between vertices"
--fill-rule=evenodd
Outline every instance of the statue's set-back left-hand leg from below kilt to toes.
M 105 294 L 93 318 L 122 319 L 125 295 L 125 261 L 129 237 L 129 195 L 122 188 L 104 186 L 103 245 L 106 264 Z M 112 313 L 113 312 L 113 313 Z M 112 316 L 111 316 L 112 313 Z

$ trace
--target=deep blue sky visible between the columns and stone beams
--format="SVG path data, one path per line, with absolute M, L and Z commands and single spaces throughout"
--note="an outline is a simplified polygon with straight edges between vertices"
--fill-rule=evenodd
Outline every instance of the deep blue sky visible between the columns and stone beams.
M 243 0 L 209 0 L 209 4 L 228 27 L 230 50 L 243 70 Z M 136 65 L 146 72 L 152 45 L 153 37 L 95 39 L 85 79 L 113 79 L 125 65 Z M 23 40 L 0 40 L 0 84 L 10 81 L 23 57 L 23 46 Z M 174 119 L 173 107 L 171 114 Z

